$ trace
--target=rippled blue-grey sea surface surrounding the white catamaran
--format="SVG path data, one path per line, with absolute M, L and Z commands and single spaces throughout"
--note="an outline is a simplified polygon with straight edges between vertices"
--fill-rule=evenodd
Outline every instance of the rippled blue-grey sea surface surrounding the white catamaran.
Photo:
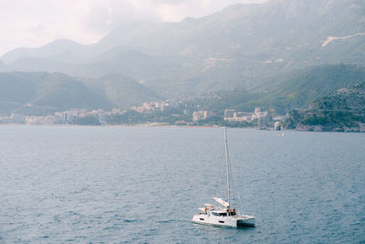
M 0 126 L 0 243 L 365 242 L 365 133 L 227 133 L 255 228 L 191 222 L 222 129 Z

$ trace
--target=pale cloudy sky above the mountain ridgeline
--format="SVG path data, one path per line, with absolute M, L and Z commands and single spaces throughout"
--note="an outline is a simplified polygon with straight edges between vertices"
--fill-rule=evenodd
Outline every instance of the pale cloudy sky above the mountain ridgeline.
M 97 42 L 126 21 L 181 21 L 267 0 L 0 0 L 0 56 L 57 38 Z

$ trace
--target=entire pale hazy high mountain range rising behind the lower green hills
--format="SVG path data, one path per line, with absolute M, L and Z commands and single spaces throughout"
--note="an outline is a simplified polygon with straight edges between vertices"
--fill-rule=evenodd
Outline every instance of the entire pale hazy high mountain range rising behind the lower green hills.
M 59 39 L 12 50 L 0 58 L 0 72 L 65 73 L 108 101 L 103 106 L 128 107 L 219 90 L 258 92 L 291 80 L 297 69 L 337 64 L 365 65 L 362 0 L 272 0 L 178 23 L 126 24 L 89 46 Z

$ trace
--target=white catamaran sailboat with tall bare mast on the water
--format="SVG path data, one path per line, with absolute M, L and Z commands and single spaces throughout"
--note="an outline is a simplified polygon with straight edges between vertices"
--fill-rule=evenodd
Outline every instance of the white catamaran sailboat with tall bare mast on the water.
M 237 228 L 240 226 L 255 227 L 255 217 L 249 215 L 240 215 L 232 206 L 231 199 L 231 170 L 228 156 L 227 131 L 224 127 L 224 152 L 225 152 L 225 170 L 228 201 L 224 201 L 221 197 L 214 196 L 214 204 L 204 204 L 204 207 L 199 208 L 202 212 L 198 212 L 193 216 L 193 223 L 205 224 L 212 226 L 223 226 Z

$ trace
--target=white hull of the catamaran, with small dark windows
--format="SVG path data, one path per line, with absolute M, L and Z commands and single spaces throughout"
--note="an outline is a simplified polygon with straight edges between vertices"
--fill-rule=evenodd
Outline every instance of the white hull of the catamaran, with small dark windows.
M 212 215 L 196 214 L 193 223 L 220 227 L 255 227 L 255 217 L 216 217 Z

